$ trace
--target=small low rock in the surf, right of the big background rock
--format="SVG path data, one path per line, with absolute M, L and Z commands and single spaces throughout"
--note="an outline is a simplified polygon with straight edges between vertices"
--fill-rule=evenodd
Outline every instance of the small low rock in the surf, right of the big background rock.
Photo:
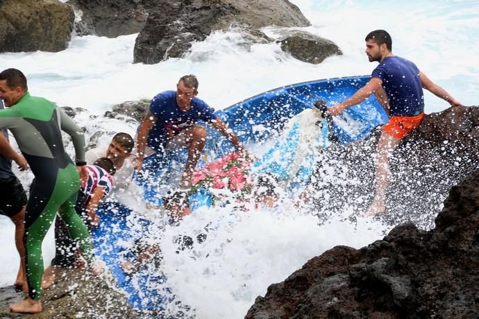
M 319 64 L 331 55 L 342 55 L 342 51 L 332 41 L 304 31 L 294 31 L 279 40 L 281 49 L 303 62 Z

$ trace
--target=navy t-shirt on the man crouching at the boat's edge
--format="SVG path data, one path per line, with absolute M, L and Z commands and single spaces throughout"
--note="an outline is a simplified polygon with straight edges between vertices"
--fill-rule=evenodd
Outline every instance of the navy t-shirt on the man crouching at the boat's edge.
M 180 110 L 176 103 L 176 91 L 157 94 L 151 100 L 150 112 L 156 117 L 156 123 L 149 132 L 147 144 L 154 150 L 161 150 L 171 137 L 197 121 L 210 123 L 217 119 L 213 114 L 215 110 L 196 97 L 192 99 L 190 110 Z

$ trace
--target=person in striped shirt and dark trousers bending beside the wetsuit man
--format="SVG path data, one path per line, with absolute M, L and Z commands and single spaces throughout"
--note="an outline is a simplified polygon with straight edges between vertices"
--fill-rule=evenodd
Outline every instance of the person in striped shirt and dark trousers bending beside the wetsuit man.
M 93 165 L 87 165 L 87 171 L 88 180 L 78 191 L 75 211 L 91 231 L 100 223 L 96 209 L 110 193 L 113 185 L 112 175 L 115 175 L 116 169 L 110 158 L 100 157 Z M 83 268 L 85 264 L 67 231 L 65 222 L 58 217 L 55 221 L 55 243 L 55 258 L 51 261 L 51 266 L 44 271 L 42 288 L 49 288 L 53 284 L 61 268 Z

